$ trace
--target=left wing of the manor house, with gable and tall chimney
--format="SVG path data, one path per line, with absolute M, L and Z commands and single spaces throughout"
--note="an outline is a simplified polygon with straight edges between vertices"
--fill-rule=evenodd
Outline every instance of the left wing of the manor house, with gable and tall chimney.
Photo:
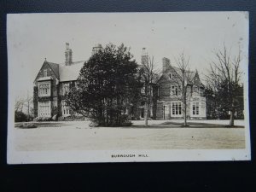
M 98 44 L 93 48 L 101 49 Z M 44 61 L 43 66 L 34 80 L 34 115 L 35 117 L 50 118 L 58 114 L 61 117 L 70 115 L 65 102 L 65 94 L 75 85 L 80 69 L 85 61 L 73 61 L 72 49 L 66 44 L 65 63 Z

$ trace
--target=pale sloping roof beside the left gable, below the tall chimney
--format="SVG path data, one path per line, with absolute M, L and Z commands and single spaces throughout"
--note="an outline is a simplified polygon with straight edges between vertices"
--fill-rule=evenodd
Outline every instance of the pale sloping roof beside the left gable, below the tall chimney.
M 77 80 L 84 61 L 73 62 L 70 66 L 59 65 L 60 82 Z

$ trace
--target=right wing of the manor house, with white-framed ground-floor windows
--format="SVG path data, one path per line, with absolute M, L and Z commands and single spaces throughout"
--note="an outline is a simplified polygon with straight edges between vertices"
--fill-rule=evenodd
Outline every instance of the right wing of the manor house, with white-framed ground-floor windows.
M 184 76 L 186 81 L 186 106 L 189 119 L 206 119 L 205 86 L 197 70 L 185 72 L 173 67 L 167 58 L 163 58 L 162 75 L 157 82 L 158 98 L 156 104 L 156 119 L 179 119 L 184 117 L 184 102 L 182 84 L 178 84 L 178 77 Z

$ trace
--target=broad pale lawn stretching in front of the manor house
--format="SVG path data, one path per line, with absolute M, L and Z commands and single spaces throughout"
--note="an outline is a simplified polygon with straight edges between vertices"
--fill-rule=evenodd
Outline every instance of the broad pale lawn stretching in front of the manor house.
M 130 127 L 90 128 L 88 121 L 39 123 L 35 129 L 15 128 L 15 149 L 38 150 L 105 150 L 105 149 L 230 149 L 245 148 L 243 121 L 226 128 L 225 120 L 133 121 Z

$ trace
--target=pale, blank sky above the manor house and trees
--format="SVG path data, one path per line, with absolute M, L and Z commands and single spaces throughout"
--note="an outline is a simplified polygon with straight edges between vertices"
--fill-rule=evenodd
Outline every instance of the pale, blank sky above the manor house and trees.
M 207 73 L 213 52 L 241 49 L 247 70 L 248 14 L 246 12 L 15 14 L 7 17 L 9 93 L 32 95 L 33 81 L 47 61 L 63 63 L 66 43 L 73 61 L 86 61 L 96 44 L 122 44 L 131 48 L 138 63 L 142 49 L 161 68 L 167 57 L 175 66 L 182 52 L 192 70 Z

